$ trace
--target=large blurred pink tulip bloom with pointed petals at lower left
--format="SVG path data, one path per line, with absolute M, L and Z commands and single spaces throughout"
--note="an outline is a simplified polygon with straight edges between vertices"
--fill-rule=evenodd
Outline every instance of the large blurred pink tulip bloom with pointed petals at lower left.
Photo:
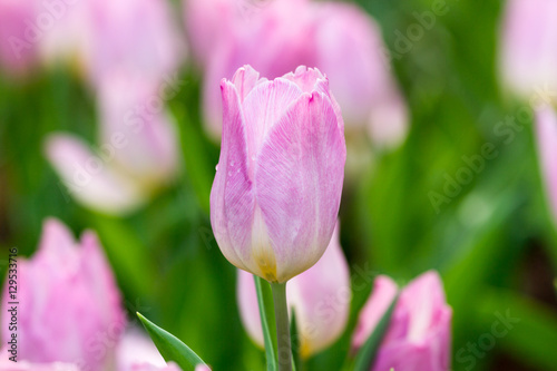
M 11 301 L 8 285 L 2 307 Z M 125 329 L 120 293 L 97 236 L 75 242 L 58 221 L 48 219 L 38 252 L 18 261 L 18 357 L 22 361 L 68 362 L 104 370 Z M 1 313 L 2 343 L 11 336 Z

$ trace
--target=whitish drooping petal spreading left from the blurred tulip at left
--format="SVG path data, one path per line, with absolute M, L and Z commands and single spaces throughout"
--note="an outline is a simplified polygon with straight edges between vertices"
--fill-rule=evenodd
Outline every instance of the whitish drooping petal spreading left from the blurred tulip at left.
M 115 173 L 85 143 L 71 135 L 51 135 L 47 157 L 69 194 L 87 207 L 120 214 L 137 207 L 143 195 L 137 186 Z

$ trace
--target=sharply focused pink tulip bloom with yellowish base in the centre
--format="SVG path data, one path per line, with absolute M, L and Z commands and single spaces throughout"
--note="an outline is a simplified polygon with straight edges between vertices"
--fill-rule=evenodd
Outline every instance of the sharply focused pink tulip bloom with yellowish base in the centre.
M 328 79 L 305 67 L 266 80 L 245 66 L 221 89 L 215 238 L 232 264 L 286 282 L 317 262 L 336 223 L 346 156 L 340 109 Z

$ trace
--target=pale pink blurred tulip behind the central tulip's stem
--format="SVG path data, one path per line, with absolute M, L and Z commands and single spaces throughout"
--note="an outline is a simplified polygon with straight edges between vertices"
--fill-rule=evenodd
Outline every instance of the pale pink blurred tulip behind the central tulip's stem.
M 336 341 L 350 310 L 350 272 L 335 230 L 323 256 L 289 282 L 287 302 L 294 310 L 303 358 Z M 237 299 L 242 322 L 250 336 L 263 346 L 263 332 L 253 275 L 238 270 Z

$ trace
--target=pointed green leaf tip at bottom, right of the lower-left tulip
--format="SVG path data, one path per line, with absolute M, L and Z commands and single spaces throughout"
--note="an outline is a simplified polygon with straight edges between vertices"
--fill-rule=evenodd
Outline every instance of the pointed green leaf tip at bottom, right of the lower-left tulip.
M 160 329 L 155 323 L 143 316 L 139 312 L 137 312 L 137 316 L 141 321 L 145 330 L 147 330 L 147 333 L 165 361 L 176 362 L 183 371 L 195 371 L 195 367 L 197 364 L 205 364 L 199 355 L 184 344 L 178 338 L 168 331 Z

